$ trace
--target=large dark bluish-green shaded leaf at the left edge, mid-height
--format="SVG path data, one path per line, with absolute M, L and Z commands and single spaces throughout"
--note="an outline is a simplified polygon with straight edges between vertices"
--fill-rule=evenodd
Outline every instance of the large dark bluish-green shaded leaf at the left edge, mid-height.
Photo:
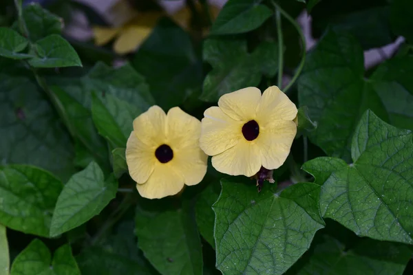
M 70 136 L 34 83 L 0 74 L 0 117 L 3 164 L 40 166 L 63 180 L 72 175 Z

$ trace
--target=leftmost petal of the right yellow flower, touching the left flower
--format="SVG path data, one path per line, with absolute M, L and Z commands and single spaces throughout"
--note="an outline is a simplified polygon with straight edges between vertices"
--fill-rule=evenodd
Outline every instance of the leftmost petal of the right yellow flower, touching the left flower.
M 220 107 L 210 107 L 202 118 L 200 147 L 207 155 L 217 155 L 235 146 L 242 137 L 242 125 L 229 118 Z

